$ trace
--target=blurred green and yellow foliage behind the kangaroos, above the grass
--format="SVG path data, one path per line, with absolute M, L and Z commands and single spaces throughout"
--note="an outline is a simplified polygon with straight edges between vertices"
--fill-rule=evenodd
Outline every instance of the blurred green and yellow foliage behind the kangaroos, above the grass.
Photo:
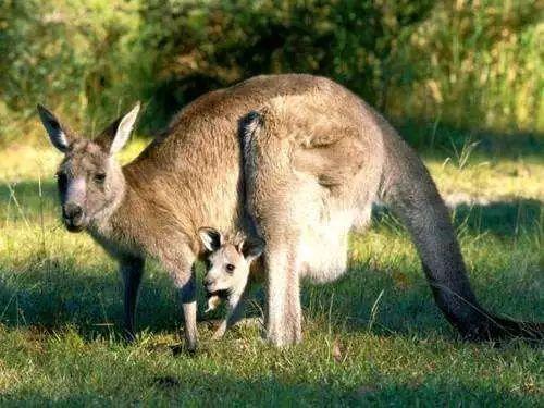
M 38 101 L 95 133 L 136 99 L 152 133 L 258 74 L 330 76 L 403 123 L 544 129 L 544 24 L 529 0 L 1 0 L 0 136 Z

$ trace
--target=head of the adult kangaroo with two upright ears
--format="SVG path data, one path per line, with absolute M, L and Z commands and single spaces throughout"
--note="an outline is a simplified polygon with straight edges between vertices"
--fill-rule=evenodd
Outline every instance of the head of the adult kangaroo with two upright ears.
M 57 182 L 62 219 L 69 231 L 79 232 L 100 221 L 121 201 L 124 177 L 113 154 L 128 140 L 138 111 L 139 103 L 90 140 L 71 132 L 52 112 L 38 106 L 51 144 L 64 153 Z

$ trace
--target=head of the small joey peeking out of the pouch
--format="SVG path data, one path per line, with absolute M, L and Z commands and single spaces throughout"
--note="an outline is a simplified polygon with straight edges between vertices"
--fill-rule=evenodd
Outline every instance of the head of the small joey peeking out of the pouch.
M 198 230 L 208 252 L 205 285 L 208 293 L 242 294 L 247 284 L 251 262 L 262 252 L 262 244 L 240 234 L 224 236 L 209 227 Z

